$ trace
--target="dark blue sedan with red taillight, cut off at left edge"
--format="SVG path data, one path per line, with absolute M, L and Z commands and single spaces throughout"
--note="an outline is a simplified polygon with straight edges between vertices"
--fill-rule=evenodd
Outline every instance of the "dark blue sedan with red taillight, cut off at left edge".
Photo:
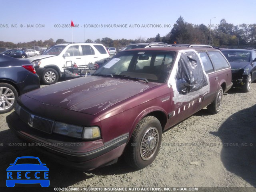
M 0 55 L 0 114 L 11 111 L 19 95 L 37 88 L 39 77 L 28 60 Z

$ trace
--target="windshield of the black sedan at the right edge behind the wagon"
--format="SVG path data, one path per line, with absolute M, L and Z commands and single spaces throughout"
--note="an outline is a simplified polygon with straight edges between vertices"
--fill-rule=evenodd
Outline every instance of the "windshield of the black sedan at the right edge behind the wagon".
M 230 62 L 249 62 L 250 61 L 250 52 L 248 51 L 223 50 L 222 53 Z

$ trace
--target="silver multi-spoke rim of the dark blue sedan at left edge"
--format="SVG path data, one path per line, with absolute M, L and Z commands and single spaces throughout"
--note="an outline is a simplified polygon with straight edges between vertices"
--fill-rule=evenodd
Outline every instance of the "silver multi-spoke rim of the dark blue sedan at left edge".
M 14 92 L 7 87 L 0 87 L 0 110 L 10 108 L 15 101 Z

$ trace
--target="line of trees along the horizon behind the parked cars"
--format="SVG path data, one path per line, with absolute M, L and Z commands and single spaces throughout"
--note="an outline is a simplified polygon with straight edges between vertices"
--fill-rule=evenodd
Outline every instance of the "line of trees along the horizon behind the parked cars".
M 130 43 L 138 42 L 165 42 L 168 44 L 209 44 L 211 37 L 211 45 L 217 47 L 227 46 L 256 46 L 256 24 L 234 24 L 226 22 L 225 19 L 220 21 L 218 25 L 211 25 L 211 36 L 210 36 L 210 25 L 204 24 L 191 24 L 180 16 L 174 24 L 172 30 L 165 36 L 160 36 L 158 33 L 156 37 L 143 38 L 138 37 L 135 40 L 132 39 L 111 39 L 108 37 L 96 40 L 87 39 L 86 43 L 102 43 L 106 47 L 122 48 Z M 56 44 L 66 43 L 64 39 L 57 39 L 54 41 L 52 38 L 49 40 L 31 41 L 31 42 L 19 42 L 14 44 L 12 42 L 0 41 L 0 47 L 6 48 L 30 48 L 32 46 L 39 47 L 51 47 Z

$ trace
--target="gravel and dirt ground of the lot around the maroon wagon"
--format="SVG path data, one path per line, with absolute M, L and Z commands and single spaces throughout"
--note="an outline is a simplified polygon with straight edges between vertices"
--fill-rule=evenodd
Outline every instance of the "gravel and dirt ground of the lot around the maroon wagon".
M 6 115 L 0 115 L 1 187 L 6 168 L 18 156 L 38 156 L 50 169 L 54 187 L 256 186 L 256 83 L 248 93 L 230 90 L 218 114 L 203 109 L 166 131 L 156 160 L 143 170 L 120 160 L 82 172 L 56 164 L 36 147 L 9 146 L 21 142 L 9 130 Z

